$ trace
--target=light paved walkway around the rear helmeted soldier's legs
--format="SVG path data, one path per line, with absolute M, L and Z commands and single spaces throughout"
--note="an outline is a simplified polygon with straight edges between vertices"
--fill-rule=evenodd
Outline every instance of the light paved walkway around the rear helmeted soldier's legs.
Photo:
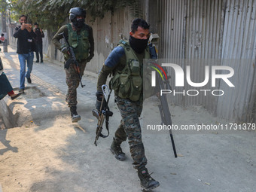
M 17 58 L 16 50 L 8 47 L 8 53 L 0 53 L 0 56 L 5 65 L 6 75 L 11 81 L 14 90 L 17 90 L 20 78 L 20 62 Z M 23 99 L 26 99 L 26 105 L 19 106 L 22 111 L 27 111 L 28 113 L 30 111 L 33 114 L 33 119 L 69 113 L 69 108 L 65 102 L 67 86 L 63 63 L 53 62 L 47 57 L 44 58 L 44 63 L 34 62 L 31 79 L 32 84 L 26 82 L 26 94 L 22 96 Z M 78 113 L 90 111 L 94 107 L 96 81 L 96 74 L 85 72 L 82 82 L 86 86 L 84 88 L 79 86 L 78 88 Z M 5 98 L 6 102 L 8 102 L 7 99 Z M 113 102 L 111 101 L 111 103 Z M 28 113 L 20 114 L 20 119 L 28 117 Z M 17 123 L 20 125 L 19 119 Z

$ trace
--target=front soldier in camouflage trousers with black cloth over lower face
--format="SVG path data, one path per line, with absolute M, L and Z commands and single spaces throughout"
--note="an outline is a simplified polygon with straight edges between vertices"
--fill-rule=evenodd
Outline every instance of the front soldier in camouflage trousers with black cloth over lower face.
M 120 144 L 128 137 L 130 153 L 133 157 L 133 166 L 138 170 L 141 186 L 146 190 L 158 187 L 160 184 L 151 178 L 145 167 L 144 145 L 139 116 L 142 113 L 142 65 L 143 59 L 150 59 L 148 50 L 149 25 L 145 20 L 133 20 L 129 41 L 121 40 L 112 50 L 99 72 L 97 84 L 96 108 L 99 111 L 102 101 L 102 84 L 112 72 L 111 87 L 114 90 L 115 102 L 120 110 L 122 120 L 117 128 L 111 152 L 117 160 L 125 160 L 125 154 Z

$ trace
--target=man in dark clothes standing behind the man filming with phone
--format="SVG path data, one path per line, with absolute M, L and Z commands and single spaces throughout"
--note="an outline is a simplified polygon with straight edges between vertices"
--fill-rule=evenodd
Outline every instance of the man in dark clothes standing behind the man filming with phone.
M 42 29 L 38 27 L 38 23 L 35 22 L 34 24 L 35 29 L 34 32 L 36 34 L 35 38 L 35 56 L 36 56 L 36 61 L 39 62 L 39 54 L 40 54 L 40 62 L 43 62 L 43 41 L 42 38 L 44 38 L 44 32 Z

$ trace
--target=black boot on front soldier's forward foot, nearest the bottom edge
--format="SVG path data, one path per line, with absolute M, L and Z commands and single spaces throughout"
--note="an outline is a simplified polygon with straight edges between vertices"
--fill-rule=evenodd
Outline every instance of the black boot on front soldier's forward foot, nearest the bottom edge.
M 145 190 L 151 190 L 160 185 L 158 181 L 151 178 L 151 175 L 148 174 L 148 169 L 145 168 L 145 166 L 138 168 L 138 176 L 141 180 L 141 186 Z

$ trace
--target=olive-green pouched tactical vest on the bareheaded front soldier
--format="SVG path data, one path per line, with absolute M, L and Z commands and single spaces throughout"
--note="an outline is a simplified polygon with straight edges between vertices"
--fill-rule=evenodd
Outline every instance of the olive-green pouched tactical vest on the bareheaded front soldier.
M 143 97 L 143 62 L 139 62 L 128 41 L 120 40 L 118 46 L 125 50 L 126 64 L 122 71 L 114 72 L 109 86 L 121 99 L 139 101 Z M 148 47 L 145 49 L 144 59 L 150 59 Z

